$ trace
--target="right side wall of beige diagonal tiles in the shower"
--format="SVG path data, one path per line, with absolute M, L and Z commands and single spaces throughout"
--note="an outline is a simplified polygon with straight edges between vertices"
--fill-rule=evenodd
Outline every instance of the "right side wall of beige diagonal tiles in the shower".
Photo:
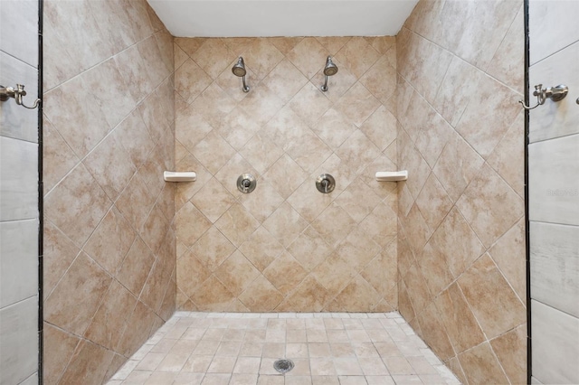
M 465 383 L 527 381 L 523 4 L 422 1 L 396 38 L 399 305 Z

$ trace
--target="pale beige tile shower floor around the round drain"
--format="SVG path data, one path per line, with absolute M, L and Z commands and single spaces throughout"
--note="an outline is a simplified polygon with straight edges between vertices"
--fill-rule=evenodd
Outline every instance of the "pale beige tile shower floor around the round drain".
M 288 358 L 285 375 L 273 362 Z M 460 384 L 393 313 L 176 312 L 115 374 L 128 384 Z

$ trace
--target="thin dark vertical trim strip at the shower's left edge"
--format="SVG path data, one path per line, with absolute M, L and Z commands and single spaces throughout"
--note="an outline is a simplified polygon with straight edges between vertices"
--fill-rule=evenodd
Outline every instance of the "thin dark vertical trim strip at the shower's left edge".
M 38 97 L 43 98 L 43 0 L 38 0 Z M 44 183 L 43 103 L 38 107 L 38 383 L 43 383 Z

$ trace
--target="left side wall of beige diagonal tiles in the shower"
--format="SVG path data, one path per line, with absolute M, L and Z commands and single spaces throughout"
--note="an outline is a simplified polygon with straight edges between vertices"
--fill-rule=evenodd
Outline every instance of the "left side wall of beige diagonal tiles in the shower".
M 44 1 L 45 384 L 100 384 L 174 312 L 173 72 L 146 1 Z

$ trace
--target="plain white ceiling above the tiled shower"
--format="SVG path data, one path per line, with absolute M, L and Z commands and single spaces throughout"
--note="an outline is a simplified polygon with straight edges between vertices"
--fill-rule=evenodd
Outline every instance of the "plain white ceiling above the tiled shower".
M 177 37 L 394 36 L 418 0 L 147 0 Z

